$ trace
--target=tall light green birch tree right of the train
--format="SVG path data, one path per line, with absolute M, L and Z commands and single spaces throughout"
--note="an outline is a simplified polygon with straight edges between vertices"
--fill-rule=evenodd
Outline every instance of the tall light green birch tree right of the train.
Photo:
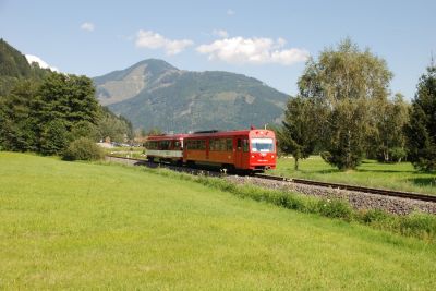
M 327 162 L 340 169 L 361 162 L 367 136 L 376 126 L 372 112 L 377 100 L 386 101 L 391 77 L 383 59 L 368 49 L 361 51 L 350 39 L 307 61 L 299 89 L 313 100 Z

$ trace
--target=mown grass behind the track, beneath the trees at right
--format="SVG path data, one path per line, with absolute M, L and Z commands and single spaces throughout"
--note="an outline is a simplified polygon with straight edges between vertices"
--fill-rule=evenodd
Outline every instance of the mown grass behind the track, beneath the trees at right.
M 410 162 L 380 163 L 375 160 L 364 160 L 355 170 L 339 171 L 319 156 L 311 156 L 301 160 L 300 170 L 295 171 L 292 158 L 279 158 L 277 169 L 270 172 L 283 177 L 436 195 L 436 173 L 419 172 Z

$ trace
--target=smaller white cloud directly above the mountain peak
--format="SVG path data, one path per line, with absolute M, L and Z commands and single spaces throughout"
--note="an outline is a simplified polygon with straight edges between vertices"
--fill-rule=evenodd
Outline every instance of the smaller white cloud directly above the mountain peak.
M 164 37 L 158 33 L 152 31 L 141 29 L 136 34 L 135 40 L 136 47 L 149 48 L 149 49 L 165 49 L 167 54 L 178 54 L 182 52 L 186 47 L 194 45 L 194 41 L 190 39 L 172 40 Z

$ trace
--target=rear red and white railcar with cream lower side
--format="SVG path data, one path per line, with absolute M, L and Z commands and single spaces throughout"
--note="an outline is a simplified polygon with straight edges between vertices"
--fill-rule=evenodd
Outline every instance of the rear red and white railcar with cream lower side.
M 183 138 L 186 134 L 161 134 L 147 137 L 144 146 L 149 161 L 183 162 Z

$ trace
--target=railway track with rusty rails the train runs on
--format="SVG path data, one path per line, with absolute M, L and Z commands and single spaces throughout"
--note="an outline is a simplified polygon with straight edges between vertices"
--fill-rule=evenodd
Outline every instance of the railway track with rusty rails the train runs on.
M 167 168 L 173 171 L 179 172 L 187 172 L 192 174 L 205 174 L 211 177 L 220 177 L 222 175 L 221 172 L 211 171 L 207 169 L 192 169 L 183 166 L 173 166 L 168 163 L 157 163 L 157 162 L 149 162 L 147 160 L 142 159 L 134 159 L 134 158 L 122 158 L 117 156 L 106 156 L 108 160 L 124 160 L 134 166 L 146 166 L 149 168 Z M 313 180 L 304 180 L 304 179 L 293 179 L 293 178 L 284 178 L 280 175 L 271 175 L 265 173 L 256 173 L 254 177 L 259 179 L 266 180 L 275 180 L 275 181 L 282 181 L 289 183 L 298 183 L 298 184 L 305 184 L 305 185 L 314 185 L 314 186 L 322 186 L 322 187 L 329 187 L 329 189 L 340 189 L 353 192 L 361 192 L 367 194 L 376 194 L 383 196 L 391 196 L 391 197 L 400 197 L 400 198 L 408 198 L 413 201 L 423 201 L 423 202 L 432 202 L 436 203 L 436 196 L 421 194 L 421 193 L 413 193 L 413 192 L 402 192 L 402 191 L 393 191 L 393 190 L 385 190 L 385 189 L 375 189 L 375 187 L 364 187 L 364 186 L 356 186 L 356 185 L 349 185 L 349 184 L 339 184 L 339 183 L 327 183 L 327 182 L 319 182 Z

